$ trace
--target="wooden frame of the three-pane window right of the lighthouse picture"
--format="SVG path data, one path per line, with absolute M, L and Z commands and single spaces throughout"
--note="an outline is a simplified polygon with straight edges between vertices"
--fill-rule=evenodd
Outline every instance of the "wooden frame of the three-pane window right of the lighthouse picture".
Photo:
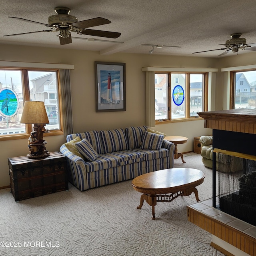
M 208 110 L 208 79 L 209 79 L 209 73 L 208 72 L 176 72 L 176 71 L 170 71 L 170 72 L 154 72 L 155 74 L 167 74 L 167 81 L 168 81 L 168 118 L 161 119 L 161 120 L 155 120 L 155 124 L 166 124 L 166 123 L 173 123 L 173 122 L 184 122 L 184 121 L 191 121 L 191 120 L 198 120 L 198 116 L 190 116 L 190 74 L 202 74 L 203 75 L 203 88 L 202 88 L 202 111 Z M 171 75 L 172 74 L 185 74 L 186 76 L 186 84 L 185 84 L 185 90 L 186 90 L 186 117 L 185 118 L 177 118 L 177 119 L 171 119 L 171 105 L 172 105 L 172 95 L 171 95 Z M 174 80 L 174 84 L 176 80 Z M 156 117 L 155 117 L 156 118 Z M 201 119 L 201 118 L 200 118 Z

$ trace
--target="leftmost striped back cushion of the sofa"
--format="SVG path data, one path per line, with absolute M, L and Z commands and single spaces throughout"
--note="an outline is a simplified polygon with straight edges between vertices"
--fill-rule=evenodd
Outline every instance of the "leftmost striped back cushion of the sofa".
M 66 138 L 67 142 L 69 142 L 70 140 L 73 140 L 77 136 L 81 140 L 84 138 L 89 140 L 89 142 L 90 142 L 90 144 L 92 144 L 94 150 L 96 150 L 96 152 L 98 154 L 102 154 L 101 145 L 100 145 L 100 135 L 99 135 L 98 131 L 89 131 L 89 132 L 80 132 L 80 133 L 75 133 L 75 134 L 69 134 Z

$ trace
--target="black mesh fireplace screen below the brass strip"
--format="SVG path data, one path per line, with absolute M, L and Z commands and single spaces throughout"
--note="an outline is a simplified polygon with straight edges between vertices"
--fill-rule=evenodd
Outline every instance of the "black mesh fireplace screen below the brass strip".
M 254 158 L 252 160 L 216 153 L 216 189 L 222 212 L 256 226 L 256 157 Z

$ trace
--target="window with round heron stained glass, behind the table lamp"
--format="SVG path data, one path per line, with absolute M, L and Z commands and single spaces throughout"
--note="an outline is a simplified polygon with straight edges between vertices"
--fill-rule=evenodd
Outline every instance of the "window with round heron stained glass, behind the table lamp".
M 61 131 L 58 70 L 0 69 L 0 139 L 24 136 L 32 124 L 21 124 L 26 100 L 43 101 L 49 118 L 47 130 Z

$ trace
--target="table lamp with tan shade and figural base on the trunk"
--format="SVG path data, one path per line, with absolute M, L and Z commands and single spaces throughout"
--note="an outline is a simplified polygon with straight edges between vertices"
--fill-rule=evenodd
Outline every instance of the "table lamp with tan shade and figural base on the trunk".
M 26 100 L 20 123 L 34 124 L 33 131 L 28 138 L 29 154 L 27 156 L 29 158 L 44 158 L 50 156 L 50 153 L 45 148 L 47 142 L 43 140 L 44 132 L 46 131 L 44 126 L 45 124 L 49 124 L 44 102 Z

